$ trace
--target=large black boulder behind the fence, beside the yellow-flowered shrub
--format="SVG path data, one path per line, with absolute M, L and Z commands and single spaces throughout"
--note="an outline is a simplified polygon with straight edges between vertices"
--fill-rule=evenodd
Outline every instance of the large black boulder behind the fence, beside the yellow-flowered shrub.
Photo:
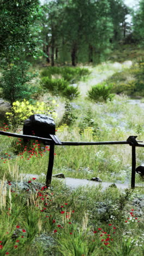
M 53 118 L 46 117 L 43 114 L 31 115 L 25 120 L 23 125 L 23 134 L 38 136 L 42 138 L 51 138 L 49 134 L 55 135 L 56 124 Z

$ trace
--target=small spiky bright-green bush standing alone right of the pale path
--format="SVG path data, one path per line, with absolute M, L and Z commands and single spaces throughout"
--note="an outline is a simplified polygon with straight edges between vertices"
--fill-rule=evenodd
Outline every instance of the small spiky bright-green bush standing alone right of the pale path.
M 88 98 L 96 102 L 107 100 L 111 101 L 114 97 L 114 95 L 111 94 L 112 87 L 113 86 L 111 84 L 107 85 L 106 83 L 94 85 L 88 91 Z

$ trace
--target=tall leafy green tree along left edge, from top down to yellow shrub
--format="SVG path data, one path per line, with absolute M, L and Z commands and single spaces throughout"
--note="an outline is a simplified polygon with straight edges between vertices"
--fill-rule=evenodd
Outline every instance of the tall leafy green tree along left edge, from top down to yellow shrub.
M 28 82 L 34 75 L 28 73 L 28 55 L 37 54 L 39 18 L 38 0 L 1 1 L 0 5 L 0 57 L 3 98 L 12 104 L 32 95 Z

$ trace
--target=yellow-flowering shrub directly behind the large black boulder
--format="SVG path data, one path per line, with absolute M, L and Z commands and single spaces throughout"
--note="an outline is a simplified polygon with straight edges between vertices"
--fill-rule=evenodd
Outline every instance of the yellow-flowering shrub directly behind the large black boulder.
M 55 100 L 53 100 L 52 103 L 55 104 Z M 47 106 L 45 102 L 37 101 L 34 105 L 32 105 L 26 100 L 22 102 L 14 102 L 11 112 L 7 112 L 5 114 L 7 115 L 9 124 L 15 126 L 22 124 L 24 120 L 33 114 L 45 114 L 56 117 L 56 112 L 53 107 Z

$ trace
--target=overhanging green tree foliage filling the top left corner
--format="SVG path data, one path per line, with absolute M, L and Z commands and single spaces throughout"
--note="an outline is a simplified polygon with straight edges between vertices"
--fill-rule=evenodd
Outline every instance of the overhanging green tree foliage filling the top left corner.
M 1 1 L 0 7 L 0 55 L 8 58 L 15 56 L 23 49 L 35 50 L 38 43 L 38 26 L 34 24 L 40 17 L 38 0 Z M 24 48 L 23 48 L 24 47 Z

